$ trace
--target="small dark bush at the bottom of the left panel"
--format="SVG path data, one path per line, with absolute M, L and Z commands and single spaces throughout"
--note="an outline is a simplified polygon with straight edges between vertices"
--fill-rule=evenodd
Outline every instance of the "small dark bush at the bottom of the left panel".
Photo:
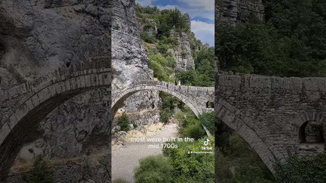
M 32 170 L 23 175 L 23 180 L 26 183 L 54 182 L 53 172 L 49 170 L 47 163 L 41 157 L 36 158 Z

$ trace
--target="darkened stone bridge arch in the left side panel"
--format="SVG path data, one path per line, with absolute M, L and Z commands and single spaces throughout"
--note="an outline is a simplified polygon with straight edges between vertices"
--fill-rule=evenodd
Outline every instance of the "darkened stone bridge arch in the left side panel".
M 8 175 L 24 139 L 33 135 L 48 113 L 76 95 L 101 87 L 111 88 L 107 59 L 59 69 L 0 91 L 0 109 L 4 109 L 0 110 L 0 182 Z

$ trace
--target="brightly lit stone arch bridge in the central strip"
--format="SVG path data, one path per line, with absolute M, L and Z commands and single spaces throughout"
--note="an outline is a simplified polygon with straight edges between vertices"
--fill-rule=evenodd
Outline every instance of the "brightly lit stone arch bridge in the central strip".
M 212 111 L 208 103 L 214 101 L 214 87 L 182 86 L 164 81 L 139 81 L 134 82 L 124 88 L 112 91 L 113 115 L 124 106 L 124 101 L 131 95 L 142 90 L 158 90 L 168 93 L 186 104 L 197 117 L 206 111 Z M 204 127 L 204 126 L 203 126 Z M 209 131 L 204 127 L 208 136 Z

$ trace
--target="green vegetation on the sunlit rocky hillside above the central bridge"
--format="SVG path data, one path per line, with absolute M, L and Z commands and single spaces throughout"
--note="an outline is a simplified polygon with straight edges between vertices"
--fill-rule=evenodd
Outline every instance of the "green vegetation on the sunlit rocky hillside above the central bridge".
M 176 79 L 184 85 L 213 86 L 214 85 L 214 49 L 204 48 L 190 31 L 187 17 L 178 9 L 158 10 L 156 7 L 136 8 L 137 16 L 141 19 L 142 40 L 149 51 L 149 68 L 154 71 L 154 77 L 161 81 L 174 82 Z M 155 23 L 154 23 L 155 22 Z M 157 28 L 155 35 L 147 31 Z M 195 60 L 195 69 L 175 73 L 174 57 L 169 50 L 179 47 L 179 40 L 171 34 L 172 31 L 189 37 L 189 45 Z M 198 48 L 203 48 L 198 50 Z M 187 52 L 181 47 L 181 56 Z

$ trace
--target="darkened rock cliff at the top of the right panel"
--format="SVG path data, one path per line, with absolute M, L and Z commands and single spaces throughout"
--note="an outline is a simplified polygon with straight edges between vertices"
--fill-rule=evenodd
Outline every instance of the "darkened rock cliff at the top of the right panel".
M 262 0 L 217 0 L 215 1 L 215 25 L 235 25 L 251 17 L 263 20 Z

